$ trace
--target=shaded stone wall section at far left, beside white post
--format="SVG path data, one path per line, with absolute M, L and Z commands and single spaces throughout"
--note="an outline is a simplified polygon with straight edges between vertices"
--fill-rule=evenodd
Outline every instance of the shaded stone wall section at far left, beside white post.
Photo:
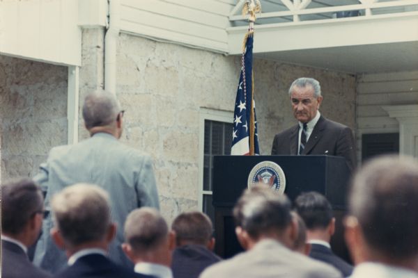
M 32 177 L 67 142 L 67 67 L 0 56 L 1 181 Z

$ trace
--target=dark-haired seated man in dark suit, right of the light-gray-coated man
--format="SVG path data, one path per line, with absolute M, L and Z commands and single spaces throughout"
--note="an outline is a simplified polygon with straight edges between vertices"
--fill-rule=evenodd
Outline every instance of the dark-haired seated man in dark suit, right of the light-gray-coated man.
M 331 250 L 331 237 L 335 231 L 332 207 L 325 196 L 316 192 L 302 193 L 295 200 L 295 208 L 307 225 L 307 238 L 311 243 L 312 259 L 333 265 L 343 277 L 353 272 L 353 265 L 343 261 Z

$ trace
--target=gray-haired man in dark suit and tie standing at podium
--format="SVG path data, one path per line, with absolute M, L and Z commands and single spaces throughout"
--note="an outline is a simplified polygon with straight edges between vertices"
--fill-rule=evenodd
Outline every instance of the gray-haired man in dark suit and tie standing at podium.
M 356 165 L 353 131 L 327 120 L 318 111 L 323 100 L 316 79 L 301 77 L 289 89 L 293 115 L 298 123 L 274 136 L 272 155 L 343 156 L 350 170 Z

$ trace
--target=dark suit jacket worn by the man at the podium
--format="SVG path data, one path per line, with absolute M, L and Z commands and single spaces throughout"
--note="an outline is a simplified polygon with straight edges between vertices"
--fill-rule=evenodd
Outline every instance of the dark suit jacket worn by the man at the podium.
M 296 124 L 274 136 L 272 154 L 296 155 L 298 135 L 299 125 Z M 353 170 L 357 163 L 353 131 L 321 115 L 302 154 L 343 156 L 350 170 Z

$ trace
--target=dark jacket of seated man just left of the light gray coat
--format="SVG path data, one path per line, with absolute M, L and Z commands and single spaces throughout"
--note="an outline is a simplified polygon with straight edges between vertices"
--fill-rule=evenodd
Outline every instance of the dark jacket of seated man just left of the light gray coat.
M 174 278 L 197 278 L 205 268 L 221 260 L 203 245 L 184 245 L 174 250 L 171 270 Z

